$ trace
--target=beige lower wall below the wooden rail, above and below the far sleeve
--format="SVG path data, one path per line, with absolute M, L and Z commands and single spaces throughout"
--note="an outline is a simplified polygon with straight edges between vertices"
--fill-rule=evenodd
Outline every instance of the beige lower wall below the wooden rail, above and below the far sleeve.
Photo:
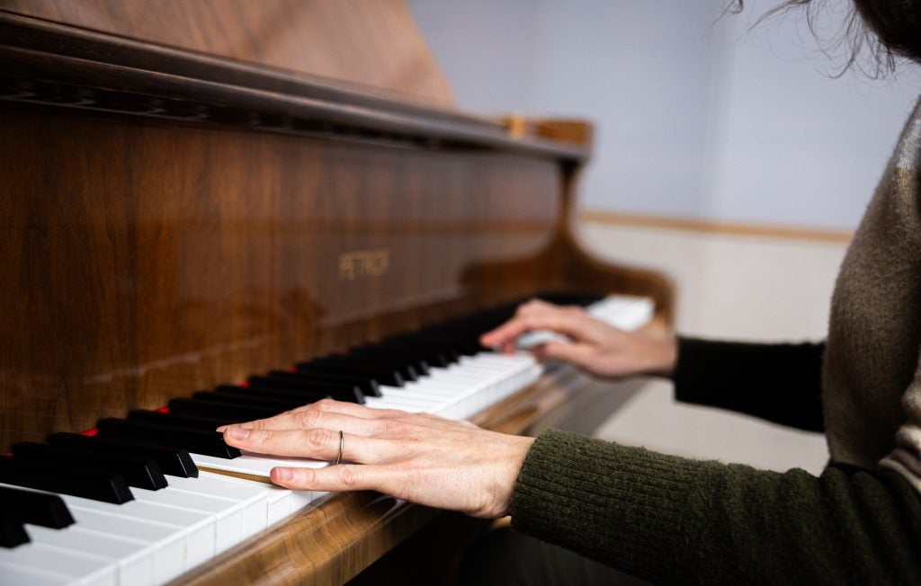
M 603 259 L 670 275 L 678 290 L 679 332 L 719 339 L 822 339 L 846 247 L 841 241 L 608 223 L 583 223 L 579 234 Z M 828 458 L 822 435 L 676 404 L 671 395 L 670 383 L 650 381 L 595 435 L 774 470 L 817 473 Z

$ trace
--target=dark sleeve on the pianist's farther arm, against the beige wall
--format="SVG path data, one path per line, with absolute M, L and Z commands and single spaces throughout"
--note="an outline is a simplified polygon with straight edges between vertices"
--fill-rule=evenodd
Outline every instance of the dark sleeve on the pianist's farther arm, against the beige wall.
M 824 344 L 753 344 L 681 338 L 675 398 L 824 431 Z

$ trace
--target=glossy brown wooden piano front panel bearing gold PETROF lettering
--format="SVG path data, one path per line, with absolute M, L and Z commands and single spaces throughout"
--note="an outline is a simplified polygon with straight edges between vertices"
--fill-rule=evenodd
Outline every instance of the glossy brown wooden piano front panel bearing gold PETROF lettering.
M 549 161 L 66 109 L 0 125 L 4 445 L 472 310 L 492 284 L 467 275 L 540 256 L 558 213 Z M 387 272 L 344 279 L 367 250 Z

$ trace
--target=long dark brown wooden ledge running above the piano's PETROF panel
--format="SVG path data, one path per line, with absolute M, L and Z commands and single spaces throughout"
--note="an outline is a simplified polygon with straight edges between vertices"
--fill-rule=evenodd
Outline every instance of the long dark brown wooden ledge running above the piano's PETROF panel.
M 0 99 L 156 120 L 578 162 L 582 144 L 512 137 L 499 121 L 223 58 L 0 11 Z

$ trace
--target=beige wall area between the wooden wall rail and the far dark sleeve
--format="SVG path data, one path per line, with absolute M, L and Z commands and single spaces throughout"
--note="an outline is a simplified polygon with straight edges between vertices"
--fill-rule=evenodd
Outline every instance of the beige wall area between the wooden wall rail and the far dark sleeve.
M 677 286 L 677 327 L 694 336 L 822 339 L 846 244 L 581 224 L 603 259 L 660 270 Z

